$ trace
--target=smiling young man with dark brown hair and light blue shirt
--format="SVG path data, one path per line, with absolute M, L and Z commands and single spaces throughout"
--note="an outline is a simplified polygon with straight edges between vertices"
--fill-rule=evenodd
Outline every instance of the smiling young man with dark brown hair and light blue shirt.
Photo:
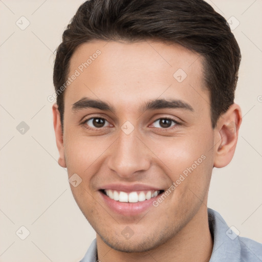
M 54 65 L 58 163 L 97 233 L 81 261 L 262 261 L 207 208 L 233 158 L 241 53 L 202 0 L 95 0 Z

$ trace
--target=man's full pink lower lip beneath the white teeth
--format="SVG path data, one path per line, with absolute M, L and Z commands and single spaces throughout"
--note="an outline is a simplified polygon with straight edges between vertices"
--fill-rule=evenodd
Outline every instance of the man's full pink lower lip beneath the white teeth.
M 138 215 L 146 211 L 150 207 L 153 206 L 153 202 L 156 201 L 159 198 L 159 195 L 157 197 L 151 198 L 149 200 L 137 202 L 137 203 L 126 203 L 126 202 L 120 202 L 120 201 L 115 201 L 104 193 L 100 192 L 101 197 L 103 198 L 105 204 L 114 212 L 119 213 L 121 215 L 126 215 L 126 216 L 132 216 L 132 215 Z

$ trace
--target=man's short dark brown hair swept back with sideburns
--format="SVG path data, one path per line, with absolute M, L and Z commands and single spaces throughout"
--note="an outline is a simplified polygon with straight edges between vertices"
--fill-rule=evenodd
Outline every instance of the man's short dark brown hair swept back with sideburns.
M 202 0 L 89 0 L 63 32 L 56 50 L 56 93 L 65 83 L 76 47 L 90 40 L 157 39 L 179 43 L 204 58 L 212 127 L 234 103 L 241 52 L 226 19 Z M 57 93 L 63 126 L 64 91 Z

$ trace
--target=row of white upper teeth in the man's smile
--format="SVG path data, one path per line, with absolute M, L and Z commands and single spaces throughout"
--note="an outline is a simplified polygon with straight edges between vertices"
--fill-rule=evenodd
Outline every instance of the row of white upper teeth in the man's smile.
M 130 202 L 130 203 L 137 203 L 137 202 L 141 202 L 141 201 L 145 201 L 145 200 L 149 200 L 153 197 L 156 197 L 160 191 L 139 191 L 139 192 L 130 192 L 130 193 L 126 193 L 123 191 L 116 191 L 116 190 L 112 190 L 112 189 L 105 189 L 104 190 L 106 195 L 115 200 L 115 201 L 119 201 L 119 202 Z

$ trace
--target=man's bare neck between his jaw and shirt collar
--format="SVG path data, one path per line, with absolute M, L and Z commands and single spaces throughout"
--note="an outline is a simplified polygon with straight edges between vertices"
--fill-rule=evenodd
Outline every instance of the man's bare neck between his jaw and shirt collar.
M 108 247 L 97 234 L 98 259 L 102 262 L 209 261 L 213 241 L 209 231 L 207 208 L 199 212 L 176 235 L 154 250 L 126 253 Z

